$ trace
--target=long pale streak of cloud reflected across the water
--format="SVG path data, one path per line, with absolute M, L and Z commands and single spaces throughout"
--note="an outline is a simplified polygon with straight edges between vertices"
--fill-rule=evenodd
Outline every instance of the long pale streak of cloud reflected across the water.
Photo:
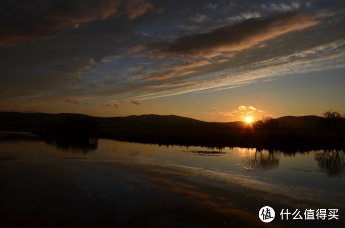
M 157 165 L 159 167 L 159 165 Z M 206 180 L 206 183 L 213 186 L 230 189 L 240 193 L 245 191 L 254 191 L 255 194 L 261 194 L 262 199 L 276 200 L 296 207 L 296 201 L 314 202 L 317 205 L 327 204 L 338 208 L 343 208 L 341 202 L 345 202 L 345 196 L 332 191 L 316 189 L 302 186 L 289 186 L 285 184 L 269 183 L 252 179 L 245 175 L 238 175 L 233 172 L 211 171 L 201 168 L 186 167 L 181 165 L 162 164 L 161 168 L 171 169 L 172 172 L 191 173 L 198 179 Z M 197 179 L 194 179 L 197 181 Z M 269 181 L 269 179 L 267 180 Z M 254 194 L 254 192 L 252 194 Z M 337 199 L 336 202 L 334 199 Z

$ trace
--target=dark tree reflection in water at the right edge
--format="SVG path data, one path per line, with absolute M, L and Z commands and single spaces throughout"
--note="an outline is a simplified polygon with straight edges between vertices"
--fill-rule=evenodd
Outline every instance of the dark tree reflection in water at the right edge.
M 328 177 L 340 176 L 345 169 L 344 150 L 342 149 L 320 150 L 314 156 L 319 166 L 328 170 Z

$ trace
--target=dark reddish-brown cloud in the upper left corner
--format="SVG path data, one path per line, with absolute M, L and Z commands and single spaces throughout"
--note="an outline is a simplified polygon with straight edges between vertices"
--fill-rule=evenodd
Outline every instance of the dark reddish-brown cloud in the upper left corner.
M 152 8 L 145 0 L 37 0 L 2 1 L 0 47 L 27 39 L 46 39 L 66 28 L 79 28 L 95 20 L 106 20 L 124 8 L 135 19 Z

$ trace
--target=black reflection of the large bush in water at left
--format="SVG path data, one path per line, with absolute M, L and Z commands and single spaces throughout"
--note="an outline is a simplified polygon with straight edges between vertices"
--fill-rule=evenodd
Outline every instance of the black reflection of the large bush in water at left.
M 71 151 L 73 153 L 82 152 L 84 154 L 94 151 L 98 147 L 98 139 L 95 138 L 85 140 L 46 140 L 46 143 L 53 144 L 63 151 Z

